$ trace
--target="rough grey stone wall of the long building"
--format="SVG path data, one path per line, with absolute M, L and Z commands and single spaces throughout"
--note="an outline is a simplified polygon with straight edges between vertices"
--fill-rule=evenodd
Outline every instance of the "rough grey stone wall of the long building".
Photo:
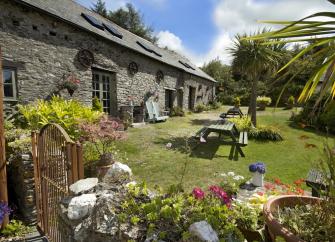
M 134 99 L 135 105 L 141 105 L 148 92 L 156 92 L 164 107 L 165 88 L 184 92 L 184 108 L 188 107 L 189 86 L 196 88 L 199 102 L 208 103 L 213 97 L 214 83 L 211 81 L 74 28 L 56 18 L 18 6 L 12 1 L 1 1 L 0 8 L 3 58 L 19 63 L 18 95 L 23 102 L 48 97 L 65 77 L 73 73 L 81 81 L 73 97 L 91 105 L 92 68 L 84 68 L 78 62 L 77 54 L 81 49 L 88 49 L 94 54 L 93 68 L 115 73 L 118 106 L 128 105 L 129 96 Z M 133 61 L 138 64 L 139 72 L 130 75 L 128 65 Z M 156 80 L 158 70 L 164 73 L 164 80 L 160 83 Z M 67 96 L 67 93 L 63 95 Z M 177 104 L 175 98 L 174 105 Z

